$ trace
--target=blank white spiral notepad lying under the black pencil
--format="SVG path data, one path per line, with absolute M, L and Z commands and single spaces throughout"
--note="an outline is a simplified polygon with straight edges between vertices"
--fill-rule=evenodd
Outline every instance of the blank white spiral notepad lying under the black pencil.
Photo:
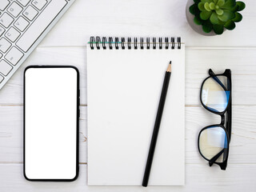
M 149 186 L 184 185 L 184 43 L 181 38 L 99 37 L 87 45 L 88 185 L 142 185 L 170 61 Z

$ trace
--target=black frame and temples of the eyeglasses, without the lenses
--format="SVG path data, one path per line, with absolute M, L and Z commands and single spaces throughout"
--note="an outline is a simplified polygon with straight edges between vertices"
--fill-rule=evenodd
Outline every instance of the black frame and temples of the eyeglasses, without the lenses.
M 203 82 L 202 82 L 202 86 L 200 89 L 200 102 L 202 103 L 202 106 L 210 111 L 211 113 L 214 114 L 218 114 L 221 116 L 221 123 L 220 124 L 215 124 L 215 125 L 210 125 L 210 126 L 206 126 L 204 128 L 202 128 L 202 130 L 200 130 L 199 134 L 198 134 L 198 150 L 199 153 L 202 155 L 202 158 L 205 158 L 206 161 L 209 162 L 209 166 L 212 166 L 213 164 L 217 164 L 218 166 L 221 167 L 222 170 L 226 170 L 226 166 L 227 166 L 227 159 L 228 159 L 228 155 L 229 155 L 229 149 L 230 149 L 230 139 L 231 139 L 231 123 L 232 123 L 232 86 L 231 86 L 231 70 L 230 69 L 226 69 L 225 72 L 223 74 L 214 74 L 213 70 L 209 70 L 209 77 L 206 78 Z M 223 83 L 219 80 L 218 76 L 225 76 L 227 78 L 227 85 L 224 86 Z M 226 109 L 222 112 L 218 112 L 216 110 L 210 110 L 209 107 L 205 106 L 204 103 L 202 102 L 202 87 L 204 85 L 204 83 L 206 82 L 207 79 L 209 78 L 213 78 L 216 82 L 218 82 L 218 84 L 220 86 L 222 86 L 223 90 L 228 90 L 230 91 L 230 98 L 229 98 L 229 102 L 226 106 Z M 226 125 L 225 125 L 225 114 L 226 114 Z M 224 126 L 225 125 L 225 126 Z M 225 133 L 226 133 L 226 138 L 227 138 L 227 148 L 224 148 L 223 150 L 221 150 L 218 154 L 216 154 L 213 158 L 211 159 L 207 159 L 206 157 L 204 157 L 204 155 L 201 153 L 200 148 L 199 148 L 199 139 L 200 136 L 202 134 L 203 130 L 209 129 L 210 127 L 213 126 L 219 126 L 221 127 Z M 223 154 L 224 153 L 224 154 Z M 221 156 L 224 155 L 225 160 L 224 162 L 216 162 L 217 159 Z

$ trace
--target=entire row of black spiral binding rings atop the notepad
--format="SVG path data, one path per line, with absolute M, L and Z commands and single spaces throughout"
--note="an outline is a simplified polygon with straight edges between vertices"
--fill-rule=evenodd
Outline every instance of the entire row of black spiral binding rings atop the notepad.
M 162 38 L 158 38 L 158 42 L 157 42 L 157 38 L 151 38 L 152 42 L 150 41 L 150 38 L 146 38 L 146 42 L 144 42 L 144 38 L 139 38 L 139 42 L 138 42 L 138 38 L 134 38 L 134 42 L 131 41 L 131 38 L 121 38 L 121 42 L 119 42 L 119 38 L 116 37 L 113 38 L 109 37 L 108 38 L 109 41 L 107 42 L 107 38 L 103 37 L 102 41 L 100 37 L 90 37 L 90 49 L 94 50 L 94 48 L 96 48 L 97 50 L 101 49 L 101 44 L 102 44 L 102 49 L 106 50 L 106 44 L 109 45 L 109 49 L 110 50 L 119 50 L 119 47 L 121 47 L 122 50 L 125 50 L 126 48 L 128 50 L 131 50 L 132 46 L 131 44 L 134 44 L 134 50 L 138 50 L 138 48 L 140 48 L 141 50 L 144 50 L 144 48 L 146 50 L 156 50 L 157 49 L 157 44 L 158 44 L 158 49 L 162 50 L 168 50 L 168 49 L 175 49 L 175 46 L 177 46 L 177 49 L 180 50 L 182 48 L 182 39 L 180 37 L 177 38 L 177 42 L 175 42 L 175 38 L 164 38 L 164 42 Z M 169 41 L 170 40 L 170 41 Z M 138 45 L 139 44 L 139 45 Z M 114 46 L 113 46 L 114 45 Z M 151 46 L 152 45 L 152 46 Z

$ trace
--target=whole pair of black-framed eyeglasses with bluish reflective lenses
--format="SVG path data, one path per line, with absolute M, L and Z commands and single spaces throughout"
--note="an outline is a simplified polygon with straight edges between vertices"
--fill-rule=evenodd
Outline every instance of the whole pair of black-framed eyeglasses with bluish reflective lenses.
M 226 170 L 231 138 L 231 70 L 223 74 L 214 74 L 209 70 L 209 77 L 202 82 L 200 101 L 211 113 L 221 116 L 221 123 L 204 127 L 198 134 L 198 150 L 209 162 Z

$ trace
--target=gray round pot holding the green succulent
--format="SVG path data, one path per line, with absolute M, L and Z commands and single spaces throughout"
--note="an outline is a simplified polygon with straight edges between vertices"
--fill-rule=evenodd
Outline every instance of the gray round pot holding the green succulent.
M 210 31 L 210 33 L 206 33 L 202 30 L 202 26 L 198 26 L 197 24 L 194 23 L 194 14 L 190 14 L 190 6 L 194 4 L 193 0 L 188 0 L 186 3 L 186 20 L 190 24 L 191 28 L 198 32 L 198 34 L 202 34 L 205 36 L 214 36 L 216 35 L 214 31 Z

